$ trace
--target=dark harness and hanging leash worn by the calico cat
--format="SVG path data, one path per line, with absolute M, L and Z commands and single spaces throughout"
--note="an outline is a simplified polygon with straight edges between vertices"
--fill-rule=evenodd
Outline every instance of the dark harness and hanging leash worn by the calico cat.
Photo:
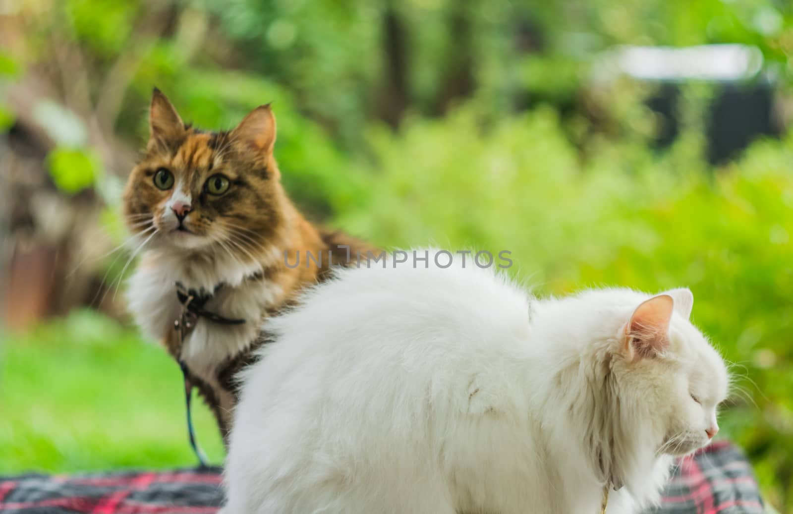
M 177 320 L 174 320 L 174 330 L 178 336 L 179 352 L 182 351 L 182 343 L 184 343 L 185 337 L 188 336 L 193 330 L 199 317 L 203 317 L 206 320 L 212 321 L 216 324 L 236 325 L 245 323 L 245 320 L 243 319 L 227 318 L 215 313 L 210 313 L 208 310 L 204 309 L 206 302 L 212 299 L 217 290 L 219 290 L 222 286 L 222 284 L 216 286 L 212 294 L 201 294 L 196 290 L 187 290 L 184 286 L 182 286 L 181 283 L 176 282 L 176 297 L 178 298 L 179 303 L 182 304 L 182 313 Z M 182 359 L 178 359 L 178 362 L 179 367 L 182 368 L 182 374 L 185 378 L 187 435 L 190 438 L 190 447 L 193 448 L 193 453 L 195 453 L 196 457 L 198 458 L 198 462 L 201 467 L 209 467 L 206 455 L 203 451 L 201 451 L 201 447 L 198 446 L 195 428 L 193 427 L 193 414 L 192 409 L 190 409 L 190 405 L 192 403 L 191 400 L 193 397 L 193 387 L 195 387 L 195 385 L 193 385 L 193 381 L 190 380 L 190 370 L 187 369 L 186 363 Z

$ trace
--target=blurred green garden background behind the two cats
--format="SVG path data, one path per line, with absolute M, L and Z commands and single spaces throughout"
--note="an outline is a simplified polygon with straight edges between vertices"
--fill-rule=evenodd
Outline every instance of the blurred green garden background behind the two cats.
M 123 299 L 156 85 L 205 128 L 273 102 L 312 221 L 510 250 L 541 294 L 691 287 L 721 433 L 793 512 L 788 0 L 0 0 L 0 44 L 0 474 L 194 462 Z

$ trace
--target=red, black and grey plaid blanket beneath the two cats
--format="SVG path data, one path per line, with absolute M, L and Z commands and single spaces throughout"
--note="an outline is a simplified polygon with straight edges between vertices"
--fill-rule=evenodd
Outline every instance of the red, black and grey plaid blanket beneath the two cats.
M 0 478 L 2 514 L 213 514 L 222 502 L 217 469 Z M 762 514 L 763 504 L 749 462 L 718 442 L 680 461 L 649 512 Z

